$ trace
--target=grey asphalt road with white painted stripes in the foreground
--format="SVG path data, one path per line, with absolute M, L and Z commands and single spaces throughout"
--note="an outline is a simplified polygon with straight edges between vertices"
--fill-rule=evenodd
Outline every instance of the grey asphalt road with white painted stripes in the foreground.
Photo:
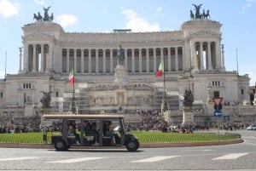
M 118 150 L 0 148 L 0 170 L 255 170 L 256 131 L 240 144 Z

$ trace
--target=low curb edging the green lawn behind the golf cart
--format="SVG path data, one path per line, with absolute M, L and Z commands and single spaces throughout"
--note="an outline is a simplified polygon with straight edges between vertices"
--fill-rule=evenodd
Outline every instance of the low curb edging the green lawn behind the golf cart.
M 189 142 L 189 143 L 153 143 L 141 144 L 140 148 L 168 148 L 168 147 L 189 147 L 189 146 L 207 146 L 207 145 L 230 145 L 242 143 L 244 140 L 214 141 L 214 142 Z M 91 149 L 91 148 L 123 148 L 125 146 L 72 146 L 72 149 Z M 0 143 L 0 148 L 34 148 L 34 149 L 54 149 L 50 144 L 26 144 L 26 143 Z

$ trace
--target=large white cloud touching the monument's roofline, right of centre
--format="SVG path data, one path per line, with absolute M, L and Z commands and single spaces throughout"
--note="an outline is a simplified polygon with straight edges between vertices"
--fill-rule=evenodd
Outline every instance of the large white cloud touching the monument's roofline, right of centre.
M 122 12 L 127 17 L 127 23 L 125 28 L 131 29 L 133 32 L 139 31 L 160 31 L 160 26 L 158 24 L 150 24 L 147 20 L 139 17 L 131 9 L 125 9 Z

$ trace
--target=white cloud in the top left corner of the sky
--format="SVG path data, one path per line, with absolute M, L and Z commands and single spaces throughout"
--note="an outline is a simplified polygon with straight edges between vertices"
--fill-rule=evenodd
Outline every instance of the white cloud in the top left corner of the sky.
M 0 0 L 0 15 L 9 18 L 19 14 L 20 3 L 10 3 L 8 0 Z

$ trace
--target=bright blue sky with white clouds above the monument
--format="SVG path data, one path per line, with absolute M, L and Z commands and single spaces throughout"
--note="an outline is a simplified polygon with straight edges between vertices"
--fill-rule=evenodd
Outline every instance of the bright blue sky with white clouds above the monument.
M 0 79 L 19 71 L 22 26 L 33 14 L 54 14 L 66 32 L 177 31 L 190 20 L 192 4 L 210 10 L 222 24 L 226 71 L 248 74 L 256 82 L 256 0 L 0 0 Z

